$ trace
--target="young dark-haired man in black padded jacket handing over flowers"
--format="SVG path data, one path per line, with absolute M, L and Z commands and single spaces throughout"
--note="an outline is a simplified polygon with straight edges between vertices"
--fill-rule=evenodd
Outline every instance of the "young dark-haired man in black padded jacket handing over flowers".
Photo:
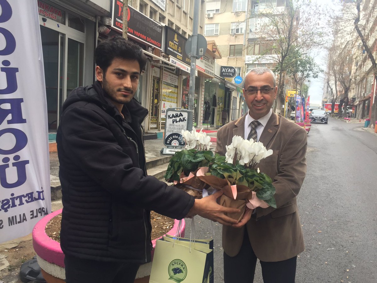
M 122 37 L 95 51 L 97 81 L 74 89 L 57 132 L 62 188 L 61 249 L 67 283 L 133 282 L 151 260 L 150 210 L 181 219 L 201 215 L 239 227 L 238 209 L 201 200 L 147 176 L 141 123 L 148 111 L 133 97 L 146 65 L 141 48 Z

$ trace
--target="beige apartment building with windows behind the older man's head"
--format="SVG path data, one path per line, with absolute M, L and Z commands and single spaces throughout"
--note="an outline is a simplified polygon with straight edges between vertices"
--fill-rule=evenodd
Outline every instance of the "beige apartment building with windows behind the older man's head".
M 242 97 L 243 82 L 239 83 L 239 77 L 243 80 L 245 74 L 256 67 L 273 69 L 276 66 L 272 41 L 261 28 L 268 23 L 264 15 L 282 12 L 285 0 L 207 0 L 206 4 L 204 35 L 207 40 L 218 43 L 222 54 L 216 62 L 236 69 L 233 78 L 225 78 L 237 86 L 234 92 L 225 89 L 225 109 L 232 108 L 230 100 L 234 100 L 243 114 L 246 105 Z M 230 106 L 227 106 L 228 101 Z

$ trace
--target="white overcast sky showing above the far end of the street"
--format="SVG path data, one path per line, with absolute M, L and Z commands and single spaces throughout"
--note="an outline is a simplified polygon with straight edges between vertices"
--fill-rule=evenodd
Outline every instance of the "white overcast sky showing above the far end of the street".
M 312 0 L 312 2 L 316 2 L 320 4 L 323 8 L 331 9 L 335 11 L 339 11 L 340 0 Z M 331 29 L 332 27 L 329 27 Z M 325 38 L 324 38 L 325 40 Z M 311 56 L 314 57 L 314 61 L 321 66 L 323 70 L 326 70 L 326 56 L 327 52 L 323 49 L 315 49 Z M 309 87 L 309 95 L 310 95 L 310 103 L 315 104 L 322 104 L 322 95 L 323 95 L 323 86 L 324 86 L 324 73 L 320 74 L 318 78 L 310 78 L 310 87 Z

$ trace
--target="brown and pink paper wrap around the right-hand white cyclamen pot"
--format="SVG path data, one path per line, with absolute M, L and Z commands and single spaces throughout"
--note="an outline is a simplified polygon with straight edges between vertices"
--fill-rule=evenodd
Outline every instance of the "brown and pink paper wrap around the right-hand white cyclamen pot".
M 248 186 L 244 185 L 231 185 L 228 179 L 223 179 L 210 175 L 208 173 L 208 167 L 203 167 L 197 172 L 197 177 L 207 183 L 212 188 L 222 190 L 224 192 L 221 197 L 218 198 L 219 205 L 238 208 L 239 213 L 229 213 L 227 216 L 240 221 L 245 213 L 246 206 L 250 209 L 257 207 L 267 208 L 269 205 L 260 200 L 256 196 L 256 192 L 252 191 Z M 257 186 L 254 186 L 256 188 Z

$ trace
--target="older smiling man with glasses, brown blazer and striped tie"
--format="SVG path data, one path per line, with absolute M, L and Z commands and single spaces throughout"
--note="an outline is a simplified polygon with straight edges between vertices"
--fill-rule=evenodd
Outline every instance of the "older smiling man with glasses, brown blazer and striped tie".
M 273 180 L 277 208 L 254 209 L 242 228 L 223 226 L 224 281 L 252 283 L 259 258 L 265 283 L 294 283 L 297 255 L 304 250 L 296 195 L 306 174 L 307 134 L 271 110 L 277 86 L 269 69 L 248 72 L 243 92 L 249 111 L 219 129 L 216 152 L 225 155 L 234 135 L 272 149 L 258 167 Z

